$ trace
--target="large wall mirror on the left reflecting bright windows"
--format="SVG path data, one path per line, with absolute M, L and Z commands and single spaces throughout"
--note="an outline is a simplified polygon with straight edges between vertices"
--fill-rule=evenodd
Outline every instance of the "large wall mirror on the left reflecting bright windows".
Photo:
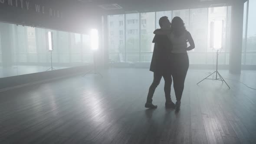
M 89 36 L 0 23 L 0 78 L 44 72 L 51 66 L 46 32 L 53 32 L 53 67 L 64 69 L 92 62 Z M 85 51 L 86 50 L 86 51 Z

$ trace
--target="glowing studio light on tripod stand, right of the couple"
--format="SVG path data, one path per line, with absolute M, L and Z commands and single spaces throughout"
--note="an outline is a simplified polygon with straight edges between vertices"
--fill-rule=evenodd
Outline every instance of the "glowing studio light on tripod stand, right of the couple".
M 215 79 L 213 80 L 219 80 L 226 83 L 226 81 L 223 79 L 223 77 L 220 75 L 218 71 L 218 58 L 219 58 L 218 56 L 219 56 L 220 50 L 222 49 L 222 39 L 223 39 L 223 20 L 216 20 L 214 22 L 211 22 L 210 46 L 213 47 L 213 49 L 217 50 L 216 51 L 216 56 L 217 56 L 216 71 L 208 75 L 203 80 L 208 79 L 211 75 L 215 74 Z M 200 82 L 202 82 L 203 80 L 201 80 Z M 198 82 L 197 85 L 200 82 Z M 226 85 L 230 88 L 230 86 L 227 83 Z

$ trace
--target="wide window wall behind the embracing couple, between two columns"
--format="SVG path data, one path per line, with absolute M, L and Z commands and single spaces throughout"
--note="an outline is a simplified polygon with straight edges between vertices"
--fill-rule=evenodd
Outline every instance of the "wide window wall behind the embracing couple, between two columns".
M 231 6 L 108 16 L 109 59 L 114 62 L 151 62 L 153 31 L 160 28 L 158 20 L 162 16 L 167 16 L 170 21 L 179 16 L 184 21 L 195 42 L 195 49 L 188 52 L 190 64 L 194 65 L 215 64 L 216 49 L 210 47 L 210 23 L 223 20 L 223 49 L 219 63 L 229 64 Z

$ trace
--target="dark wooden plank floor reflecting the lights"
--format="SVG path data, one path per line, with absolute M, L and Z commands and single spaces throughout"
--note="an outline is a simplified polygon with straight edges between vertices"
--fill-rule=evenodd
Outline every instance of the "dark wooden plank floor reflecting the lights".
M 181 110 L 144 108 L 153 73 L 109 69 L 0 92 L 0 144 L 256 144 L 256 71 L 189 70 Z M 233 80 L 230 80 L 233 79 Z M 171 97 L 175 102 L 172 88 Z

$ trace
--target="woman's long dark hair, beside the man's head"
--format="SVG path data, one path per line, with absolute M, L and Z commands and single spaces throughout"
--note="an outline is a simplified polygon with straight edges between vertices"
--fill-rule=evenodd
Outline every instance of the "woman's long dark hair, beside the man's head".
M 175 16 L 171 20 L 171 32 L 174 33 L 174 36 L 179 37 L 185 31 L 187 31 L 183 20 L 179 16 Z

